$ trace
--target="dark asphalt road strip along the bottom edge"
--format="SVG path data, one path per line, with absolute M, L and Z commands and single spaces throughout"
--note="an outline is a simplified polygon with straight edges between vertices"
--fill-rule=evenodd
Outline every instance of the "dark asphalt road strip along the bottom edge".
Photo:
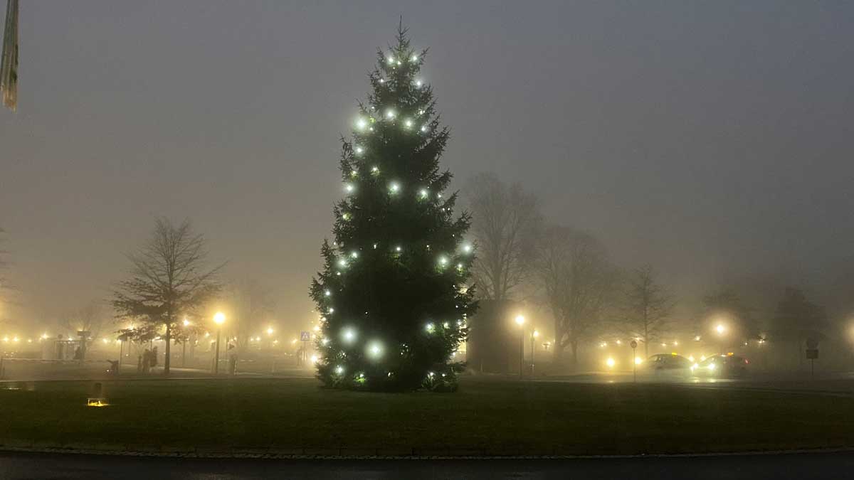
M 854 452 L 571 460 L 217 460 L 0 452 L 19 478 L 850 478 Z

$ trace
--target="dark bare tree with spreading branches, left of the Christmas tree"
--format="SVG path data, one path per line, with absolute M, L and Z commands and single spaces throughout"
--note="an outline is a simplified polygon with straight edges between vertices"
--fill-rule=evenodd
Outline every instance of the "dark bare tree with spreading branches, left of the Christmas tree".
M 165 330 L 163 373 L 168 375 L 170 341 L 178 322 L 219 293 L 216 275 L 225 264 L 206 268 L 205 239 L 193 232 L 190 220 L 176 226 L 164 218 L 155 220 L 149 239 L 127 258 L 130 278 L 116 285 L 113 307 L 121 317 Z

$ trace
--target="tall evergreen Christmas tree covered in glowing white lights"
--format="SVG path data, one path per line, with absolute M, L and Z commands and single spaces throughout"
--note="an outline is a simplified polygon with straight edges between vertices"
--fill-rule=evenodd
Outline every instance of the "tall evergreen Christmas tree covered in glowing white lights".
M 345 197 L 334 208 L 335 241 L 323 243 L 323 272 L 311 296 L 322 314 L 318 377 L 349 389 L 455 389 L 454 353 L 474 313 L 466 213 L 443 195 L 449 131 L 419 73 L 427 50 L 377 51 L 372 92 L 352 138 L 342 138 Z

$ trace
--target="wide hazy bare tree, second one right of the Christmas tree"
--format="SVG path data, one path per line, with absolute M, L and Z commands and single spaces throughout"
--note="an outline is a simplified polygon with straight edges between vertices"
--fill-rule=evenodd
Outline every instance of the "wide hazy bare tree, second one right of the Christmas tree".
M 595 237 L 550 226 L 537 243 L 535 272 L 554 317 L 555 360 L 569 347 L 578 363 L 578 342 L 600 329 L 617 288 L 617 269 Z

